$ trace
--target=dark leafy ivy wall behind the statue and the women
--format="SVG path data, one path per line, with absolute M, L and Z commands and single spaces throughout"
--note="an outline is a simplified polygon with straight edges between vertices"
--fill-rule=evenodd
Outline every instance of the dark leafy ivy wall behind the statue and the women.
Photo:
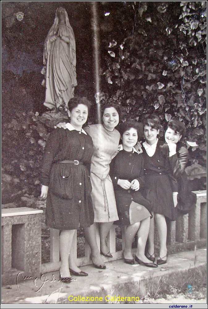
M 40 194 L 40 164 L 51 128 L 40 115 L 42 54 L 55 10 L 74 30 L 75 94 L 93 102 L 96 118 L 91 2 L 2 2 L 2 203 Z M 22 11 L 20 22 L 15 13 Z M 108 14 L 109 13 L 109 14 Z M 183 121 L 194 165 L 192 189 L 205 189 L 206 2 L 97 2 L 102 101 L 120 104 L 121 121 L 157 114 L 163 126 Z M 58 118 L 57 118 L 58 120 Z

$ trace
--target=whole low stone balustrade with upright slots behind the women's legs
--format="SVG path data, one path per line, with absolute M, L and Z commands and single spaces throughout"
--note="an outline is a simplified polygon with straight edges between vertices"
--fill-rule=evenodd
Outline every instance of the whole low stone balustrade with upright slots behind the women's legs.
M 167 225 L 169 253 L 206 246 L 206 191 L 193 193 L 197 196 L 193 210 Z M 50 229 L 50 262 L 41 264 L 42 212 L 28 207 L 2 209 L 2 284 L 14 283 L 18 274 L 19 280 L 23 280 L 59 269 L 59 230 Z M 104 262 L 122 258 L 122 250 L 116 252 L 115 229 L 113 225 L 107 238 L 113 258 L 103 256 Z M 122 249 L 124 232 L 125 228 L 122 229 Z M 100 248 L 98 232 L 97 243 Z M 85 243 L 85 256 L 77 258 L 77 265 L 91 263 L 90 247 Z

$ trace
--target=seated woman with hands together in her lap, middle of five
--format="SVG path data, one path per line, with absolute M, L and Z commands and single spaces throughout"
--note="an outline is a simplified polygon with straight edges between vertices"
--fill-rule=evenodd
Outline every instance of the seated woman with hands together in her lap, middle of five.
M 144 254 L 146 240 L 149 232 L 151 217 L 151 203 L 140 193 L 144 186 L 143 158 L 134 149 L 138 139 L 138 124 L 124 122 L 120 133 L 122 147 L 110 164 L 110 176 L 114 186 L 119 225 L 125 226 L 124 261 L 134 264 L 131 247 L 136 233 L 138 234 L 138 249 L 135 260 L 148 267 L 157 267 L 150 262 Z

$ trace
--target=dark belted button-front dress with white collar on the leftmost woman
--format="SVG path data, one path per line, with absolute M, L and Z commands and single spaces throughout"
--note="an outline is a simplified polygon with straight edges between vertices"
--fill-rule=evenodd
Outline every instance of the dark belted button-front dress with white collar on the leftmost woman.
M 67 129 L 50 133 L 42 166 L 42 185 L 48 186 L 47 226 L 58 230 L 75 230 L 94 223 L 91 200 L 90 164 L 93 151 L 91 137 L 66 124 Z M 75 161 L 76 164 L 60 163 Z M 58 181 L 57 187 L 54 185 Z M 59 185 L 60 184 L 60 185 Z M 66 188 L 67 197 L 57 192 Z M 63 192 L 65 190 L 62 190 Z

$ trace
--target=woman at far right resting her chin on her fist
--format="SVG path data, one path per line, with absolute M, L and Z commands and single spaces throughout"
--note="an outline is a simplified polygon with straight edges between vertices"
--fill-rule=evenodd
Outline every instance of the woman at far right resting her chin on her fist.
M 179 214 L 186 214 L 196 204 L 196 196 L 188 189 L 188 179 L 185 173 L 185 167 L 188 163 L 189 152 L 181 140 L 186 133 L 185 125 L 178 120 L 168 121 L 168 128 L 165 132 L 165 141 L 167 144 L 162 146 L 163 151 L 168 155 L 173 177 L 177 181 L 176 208 Z

